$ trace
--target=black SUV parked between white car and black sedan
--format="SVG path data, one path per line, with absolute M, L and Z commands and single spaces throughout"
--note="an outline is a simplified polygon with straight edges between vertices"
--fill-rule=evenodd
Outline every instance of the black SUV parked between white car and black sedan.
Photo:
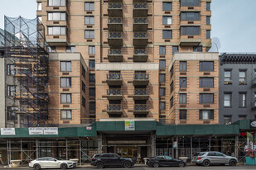
M 97 168 L 104 168 L 104 167 L 131 168 L 134 165 L 133 160 L 131 158 L 122 158 L 116 153 L 94 154 L 90 164 L 96 166 Z

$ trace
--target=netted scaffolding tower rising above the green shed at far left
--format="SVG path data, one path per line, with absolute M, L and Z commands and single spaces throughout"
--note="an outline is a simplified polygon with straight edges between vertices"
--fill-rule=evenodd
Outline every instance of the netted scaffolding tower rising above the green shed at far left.
M 4 17 L 6 127 L 46 125 L 48 53 L 41 21 Z

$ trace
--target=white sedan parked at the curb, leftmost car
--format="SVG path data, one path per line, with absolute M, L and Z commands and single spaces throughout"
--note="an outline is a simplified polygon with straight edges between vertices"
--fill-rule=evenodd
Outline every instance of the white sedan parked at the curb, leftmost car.
M 44 157 L 36 158 L 29 163 L 29 168 L 39 170 L 41 168 L 75 168 L 76 163 L 74 161 L 57 160 L 56 158 Z

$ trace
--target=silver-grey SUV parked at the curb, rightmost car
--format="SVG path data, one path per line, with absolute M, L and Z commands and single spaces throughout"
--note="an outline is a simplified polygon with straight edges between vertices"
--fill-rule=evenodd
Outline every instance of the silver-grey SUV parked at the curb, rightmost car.
M 227 156 L 224 153 L 211 151 L 195 153 L 193 155 L 192 163 L 196 163 L 196 165 L 203 165 L 205 167 L 208 167 L 211 164 L 225 165 L 226 163 L 229 163 L 230 166 L 235 166 L 236 163 L 238 163 L 238 159 Z

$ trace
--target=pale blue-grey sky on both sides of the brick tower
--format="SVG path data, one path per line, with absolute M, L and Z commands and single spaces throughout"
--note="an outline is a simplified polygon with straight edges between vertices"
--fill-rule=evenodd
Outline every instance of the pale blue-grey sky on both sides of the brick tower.
M 220 52 L 256 52 L 256 0 L 212 0 L 211 37 L 220 39 Z M 0 0 L 3 16 L 36 17 L 36 0 Z

